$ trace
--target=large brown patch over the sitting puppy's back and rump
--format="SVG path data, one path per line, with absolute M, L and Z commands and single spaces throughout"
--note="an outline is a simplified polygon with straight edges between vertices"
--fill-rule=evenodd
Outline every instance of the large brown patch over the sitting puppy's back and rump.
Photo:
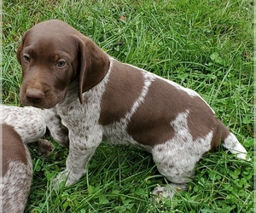
M 190 96 L 182 89 L 156 78 L 143 104 L 131 117 L 127 131 L 135 141 L 153 147 L 172 139 L 175 132 L 170 123 L 178 113 L 186 110 L 189 110 L 188 125 L 193 138 L 207 135 L 214 126 L 214 115 L 207 104 L 201 98 Z

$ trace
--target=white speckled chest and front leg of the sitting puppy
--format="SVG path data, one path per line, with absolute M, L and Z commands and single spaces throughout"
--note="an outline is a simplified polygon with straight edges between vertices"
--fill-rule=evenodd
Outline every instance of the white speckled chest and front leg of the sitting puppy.
M 103 127 L 98 124 L 98 120 L 101 98 L 109 74 L 110 72 L 101 83 L 84 93 L 83 105 L 79 103 L 77 95 L 79 89 L 76 86 L 77 82 L 74 82 L 67 90 L 65 100 L 55 107 L 61 116 L 62 124 L 68 129 L 70 141 L 67 167 L 55 178 L 56 183 L 67 179 L 66 184 L 71 185 L 78 181 L 84 175 L 87 163 L 95 153 L 96 147 L 102 142 Z

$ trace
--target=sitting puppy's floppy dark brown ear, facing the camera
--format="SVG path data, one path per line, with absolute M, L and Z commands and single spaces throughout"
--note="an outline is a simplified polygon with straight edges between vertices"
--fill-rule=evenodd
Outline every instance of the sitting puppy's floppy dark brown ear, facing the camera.
M 84 35 L 76 35 L 79 45 L 79 101 L 83 104 L 83 93 L 100 83 L 108 72 L 108 55 L 96 43 Z

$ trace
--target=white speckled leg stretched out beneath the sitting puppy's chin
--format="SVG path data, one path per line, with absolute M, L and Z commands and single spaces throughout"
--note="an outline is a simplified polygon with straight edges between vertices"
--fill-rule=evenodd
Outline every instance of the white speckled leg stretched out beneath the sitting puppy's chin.
M 13 126 L 25 143 L 38 141 L 47 127 L 55 141 L 62 147 L 68 147 L 67 130 L 61 125 L 61 118 L 55 108 L 42 110 L 36 107 L 0 105 L 0 115 L 0 124 Z

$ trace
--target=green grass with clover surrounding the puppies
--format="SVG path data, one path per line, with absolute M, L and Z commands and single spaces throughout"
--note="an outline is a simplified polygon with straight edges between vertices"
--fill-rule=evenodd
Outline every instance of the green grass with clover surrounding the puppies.
M 195 89 L 253 158 L 252 0 L 21 0 L 3 3 L 3 103 L 20 106 L 15 51 L 34 24 L 58 18 L 91 37 L 109 55 Z M 253 161 L 219 147 L 196 166 L 189 190 L 172 201 L 149 201 L 166 180 L 135 147 L 102 144 L 86 176 L 56 191 L 65 168 L 56 145 L 44 160 L 31 149 L 34 177 L 26 212 L 253 212 Z

